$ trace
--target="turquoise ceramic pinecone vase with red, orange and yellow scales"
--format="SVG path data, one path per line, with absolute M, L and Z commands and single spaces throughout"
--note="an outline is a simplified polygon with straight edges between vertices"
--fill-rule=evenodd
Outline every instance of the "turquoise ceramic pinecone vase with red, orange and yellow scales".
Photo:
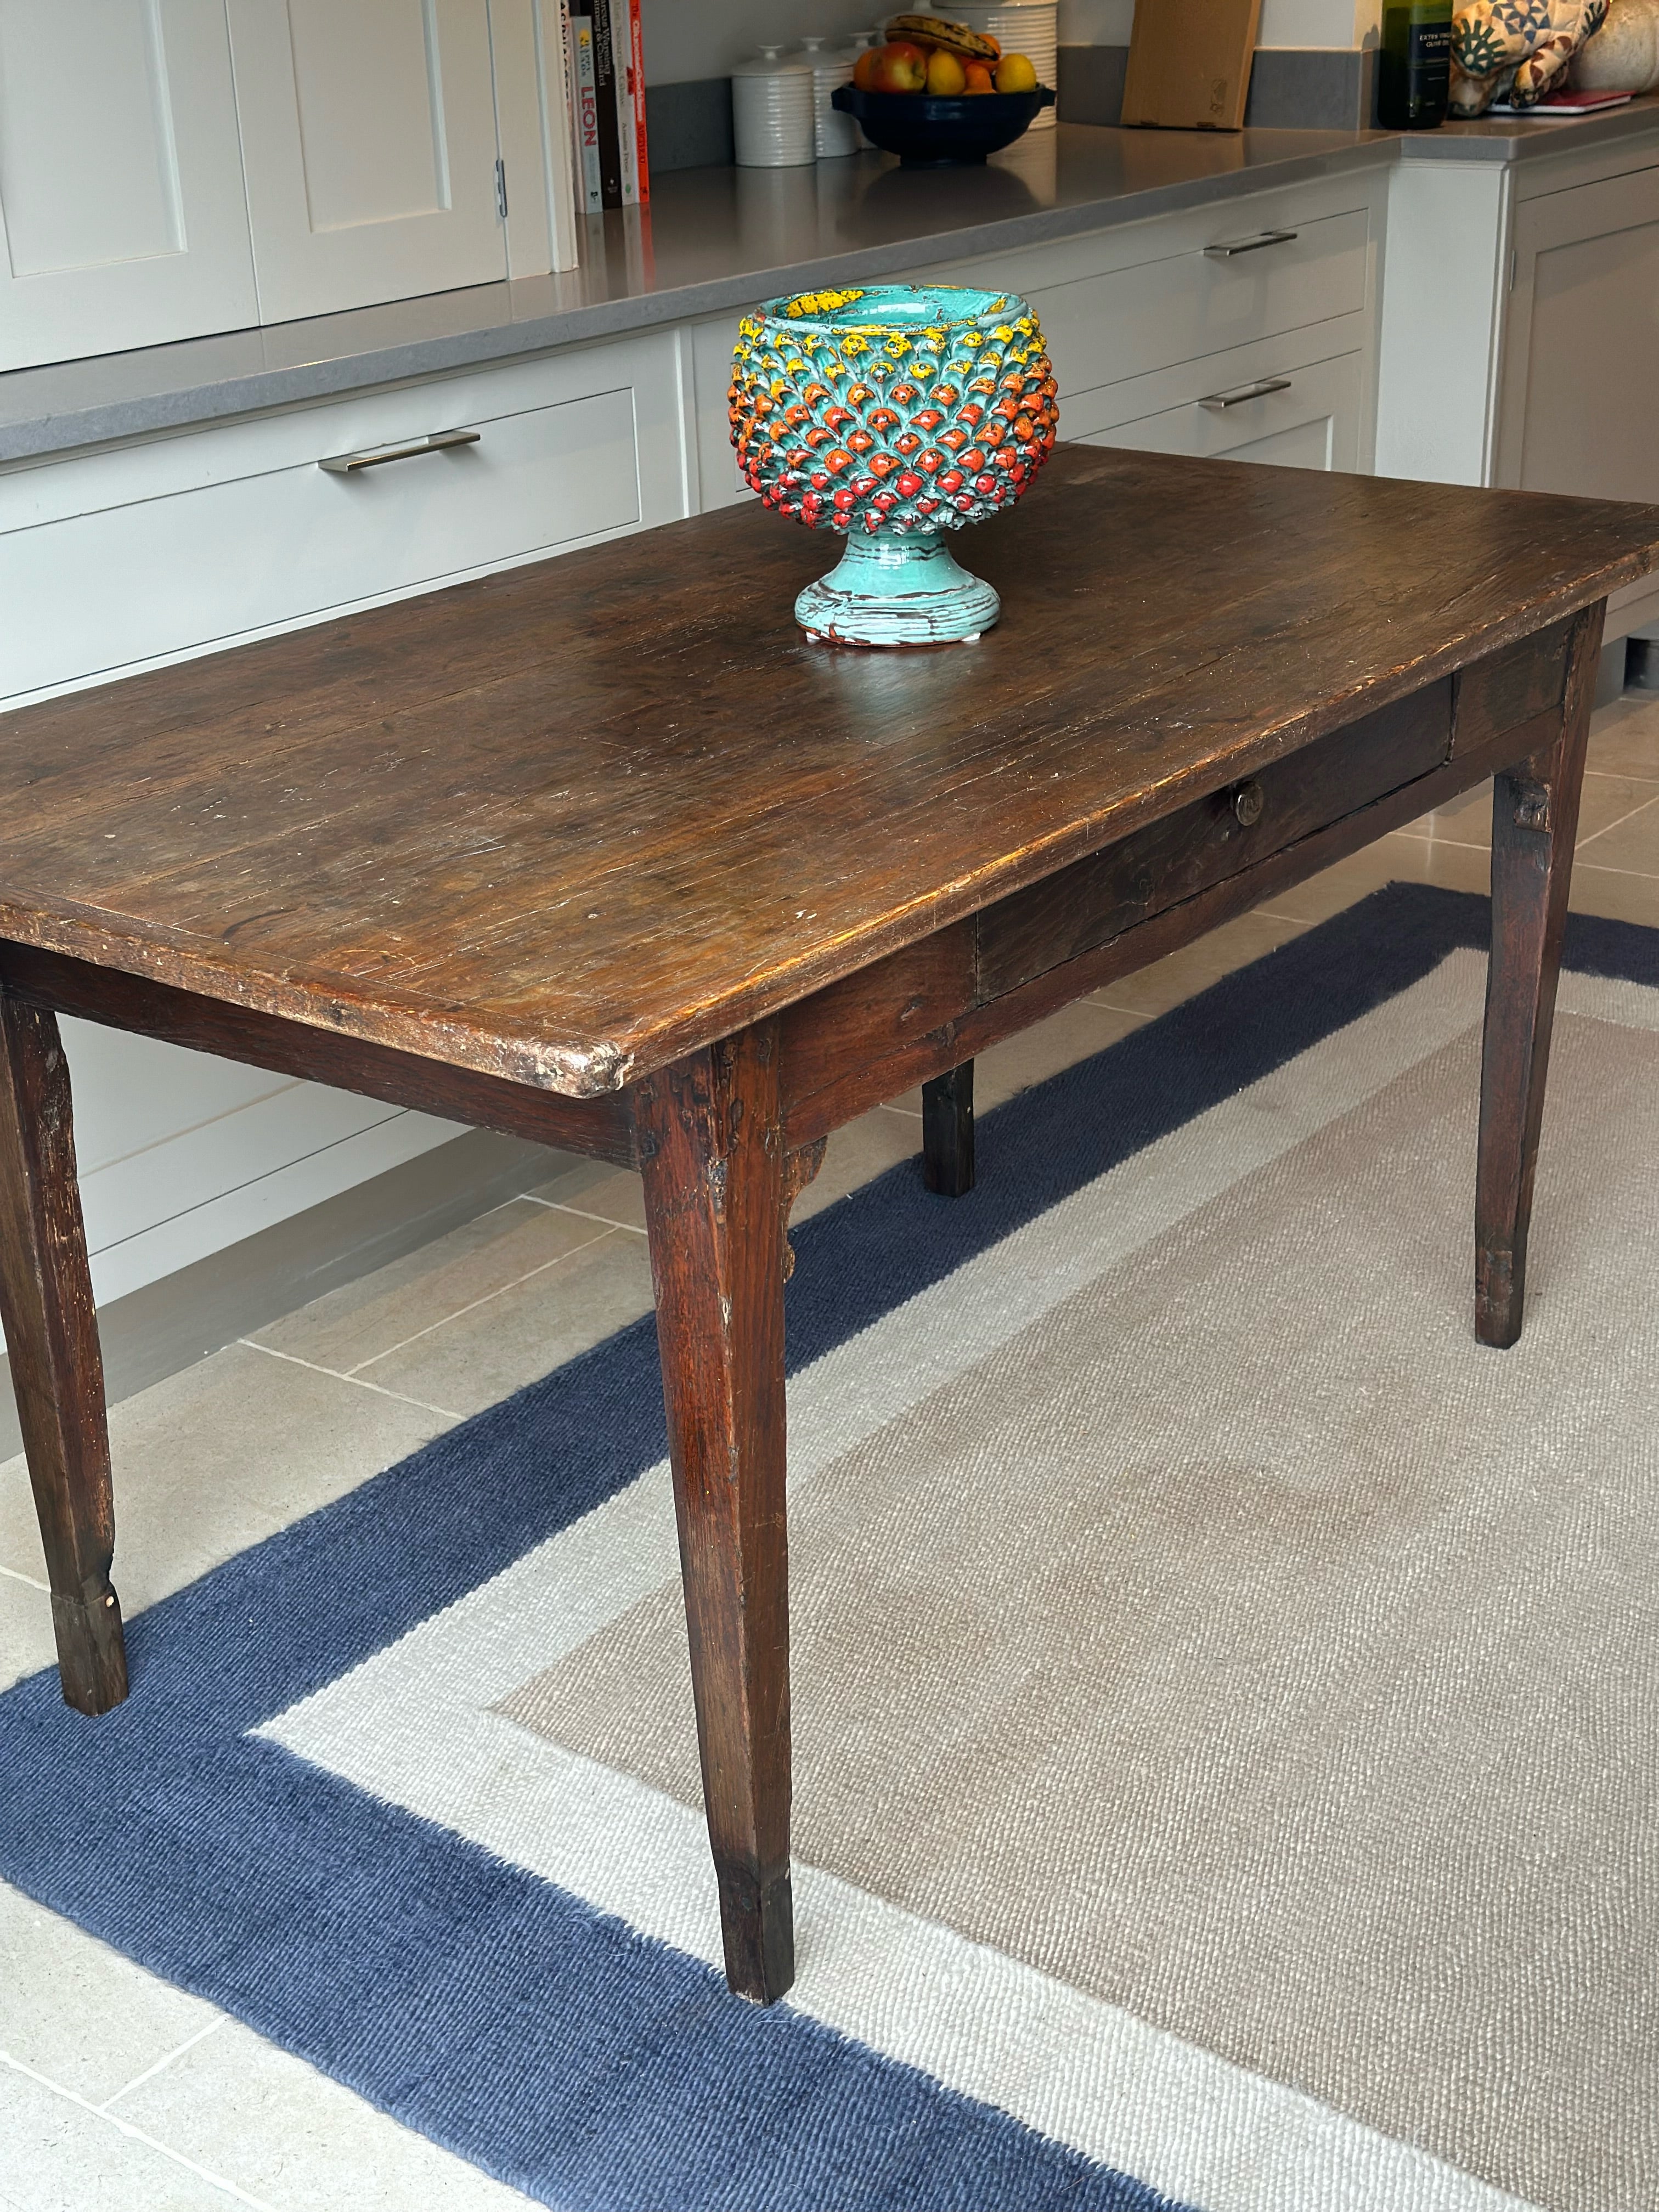
M 869 285 L 745 314 L 732 445 L 768 507 L 847 540 L 794 619 L 849 646 L 973 639 L 1000 611 L 949 533 L 1013 507 L 1055 442 L 1037 319 L 1013 292 Z

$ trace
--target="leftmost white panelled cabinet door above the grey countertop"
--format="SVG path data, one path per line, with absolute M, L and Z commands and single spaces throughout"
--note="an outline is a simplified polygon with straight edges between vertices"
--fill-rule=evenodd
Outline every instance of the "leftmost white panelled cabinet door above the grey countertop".
M 223 0 L 0 0 L 0 369 L 257 321 Z

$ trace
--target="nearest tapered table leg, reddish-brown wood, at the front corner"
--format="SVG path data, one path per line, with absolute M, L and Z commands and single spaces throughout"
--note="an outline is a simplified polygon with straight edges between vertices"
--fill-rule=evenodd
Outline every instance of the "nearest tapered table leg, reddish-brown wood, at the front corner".
M 779 1031 L 635 1093 L 726 1980 L 794 1980 Z

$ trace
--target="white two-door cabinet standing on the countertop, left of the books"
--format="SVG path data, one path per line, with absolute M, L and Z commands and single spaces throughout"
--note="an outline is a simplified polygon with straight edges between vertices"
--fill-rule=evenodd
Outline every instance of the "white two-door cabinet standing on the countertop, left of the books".
M 0 369 L 573 268 L 557 0 L 0 0 Z

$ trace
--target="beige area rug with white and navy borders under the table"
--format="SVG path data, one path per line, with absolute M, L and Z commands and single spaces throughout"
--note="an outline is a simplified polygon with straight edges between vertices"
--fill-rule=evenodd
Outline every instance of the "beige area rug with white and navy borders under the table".
M 1471 1340 L 1484 900 L 1391 885 L 790 1285 L 799 1984 L 726 1995 L 655 1334 L 0 1699 L 0 1874 L 580 2212 L 1659 2201 L 1659 933 Z

